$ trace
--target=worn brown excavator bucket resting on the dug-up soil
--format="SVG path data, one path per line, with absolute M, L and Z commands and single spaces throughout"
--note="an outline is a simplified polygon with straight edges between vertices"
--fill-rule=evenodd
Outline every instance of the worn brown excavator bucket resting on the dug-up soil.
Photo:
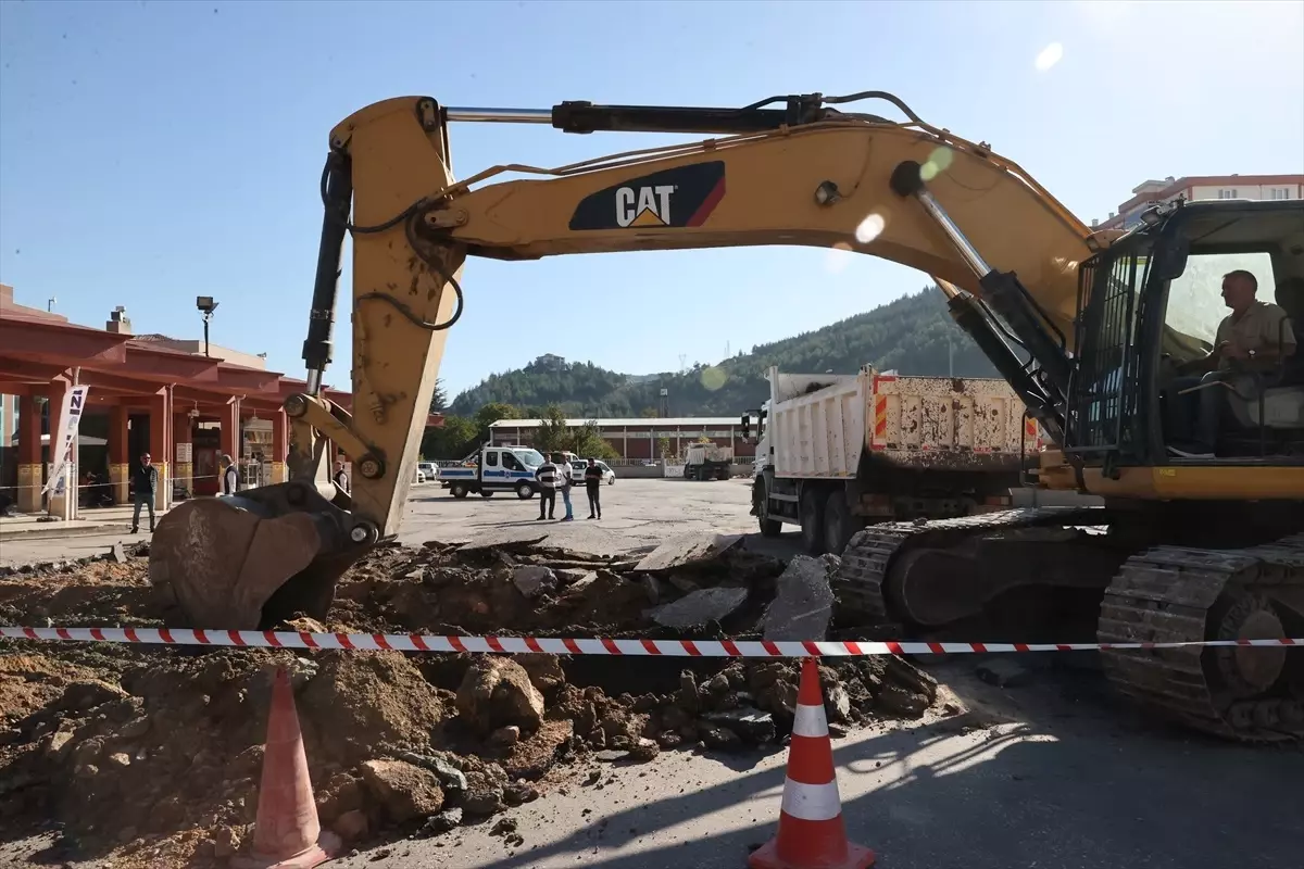
M 299 615 L 322 620 L 336 581 L 369 548 L 348 542 L 342 516 L 303 483 L 183 502 L 150 541 L 150 582 L 166 607 L 180 610 L 184 627 L 254 631 Z

